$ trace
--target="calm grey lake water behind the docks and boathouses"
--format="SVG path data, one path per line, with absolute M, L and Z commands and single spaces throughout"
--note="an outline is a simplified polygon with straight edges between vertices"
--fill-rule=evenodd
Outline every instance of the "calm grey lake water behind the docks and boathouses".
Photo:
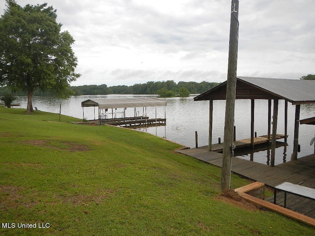
M 81 102 L 87 99 L 97 98 L 130 98 L 141 96 L 154 95 L 84 95 L 72 96 L 70 99 L 63 100 L 52 97 L 33 97 L 33 107 L 38 110 L 59 113 L 60 104 L 61 113 L 63 115 L 72 116 L 76 118 L 83 118 L 83 109 Z M 142 131 L 164 137 L 176 143 L 194 147 L 195 146 L 195 131 L 198 132 L 198 145 L 208 145 L 208 128 L 209 128 L 209 101 L 193 101 L 191 95 L 186 98 L 163 98 L 166 100 L 166 107 L 157 107 L 157 117 L 164 118 L 166 114 L 166 126 L 139 128 Z M 156 96 L 155 96 L 156 97 Z M 26 108 L 27 97 L 19 97 L 20 107 Z M 213 143 L 218 143 L 218 138 L 223 142 L 224 133 L 224 117 L 225 117 L 225 101 L 217 100 L 213 102 Z M 117 112 L 123 110 L 117 110 Z M 147 115 L 149 118 L 155 118 L 155 108 L 147 108 Z M 143 114 L 142 108 L 137 108 L 136 112 Z M 126 116 L 134 116 L 134 108 L 126 109 Z M 286 161 L 290 160 L 293 151 L 293 134 L 294 134 L 294 114 L 295 106 L 288 103 L 288 146 L 286 151 L 284 147 L 276 149 L 275 164 L 283 162 L 284 152 L 286 152 Z M 255 100 L 255 124 L 254 131 L 257 136 L 266 135 L 268 132 L 268 101 Z M 121 116 L 119 113 L 118 117 Z M 315 104 L 301 105 L 300 118 L 311 118 L 315 116 Z M 97 108 L 84 108 L 84 118 L 94 119 L 98 117 Z M 236 100 L 235 102 L 235 126 L 236 126 L 236 140 L 250 138 L 251 136 L 251 101 L 250 100 Z M 278 112 L 278 134 L 284 134 L 284 101 L 279 101 Z M 314 146 L 310 146 L 310 141 L 315 135 L 314 125 L 300 125 L 299 144 L 301 152 L 298 157 L 306 156 L 314 153 Z M 243 154 L 241 158 L 252 159 L 255 162 L 266 164 L 267 151 L 255 152 L 251 154 Z

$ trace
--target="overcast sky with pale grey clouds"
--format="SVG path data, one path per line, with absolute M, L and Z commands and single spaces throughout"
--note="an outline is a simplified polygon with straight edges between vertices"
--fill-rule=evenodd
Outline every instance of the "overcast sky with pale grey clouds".
M 75 39 L 72 86 L 227 79 L 230 0 L 16 0 L 57 9 Z M 6 8 L 0 1 L 0 14 Z M 240 0 L 238 76 L 315 74 L 314 0 Z

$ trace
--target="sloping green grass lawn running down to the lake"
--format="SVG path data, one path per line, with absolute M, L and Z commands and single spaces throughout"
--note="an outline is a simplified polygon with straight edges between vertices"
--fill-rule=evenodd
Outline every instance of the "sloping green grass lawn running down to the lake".
M 174 152 L 177 144 L 58 121 L 0 107 L 0 235 L 315 235 L 277 213 L 222 201 L 221 168 Z M 232 187 L 246 184 L 232 175 Z M 18 228 L 27 223 L 36 228 Z

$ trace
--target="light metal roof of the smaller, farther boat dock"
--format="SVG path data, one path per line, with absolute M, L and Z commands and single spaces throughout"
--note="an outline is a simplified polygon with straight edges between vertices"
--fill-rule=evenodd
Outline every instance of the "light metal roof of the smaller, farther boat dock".
M 166 106 L 166 101 L 155 97 L 139 97 L 124 99 L 88 99 L 81 102 L 81 107 L 96 107 L 99 109 L 127 107 L 159 107 Z

